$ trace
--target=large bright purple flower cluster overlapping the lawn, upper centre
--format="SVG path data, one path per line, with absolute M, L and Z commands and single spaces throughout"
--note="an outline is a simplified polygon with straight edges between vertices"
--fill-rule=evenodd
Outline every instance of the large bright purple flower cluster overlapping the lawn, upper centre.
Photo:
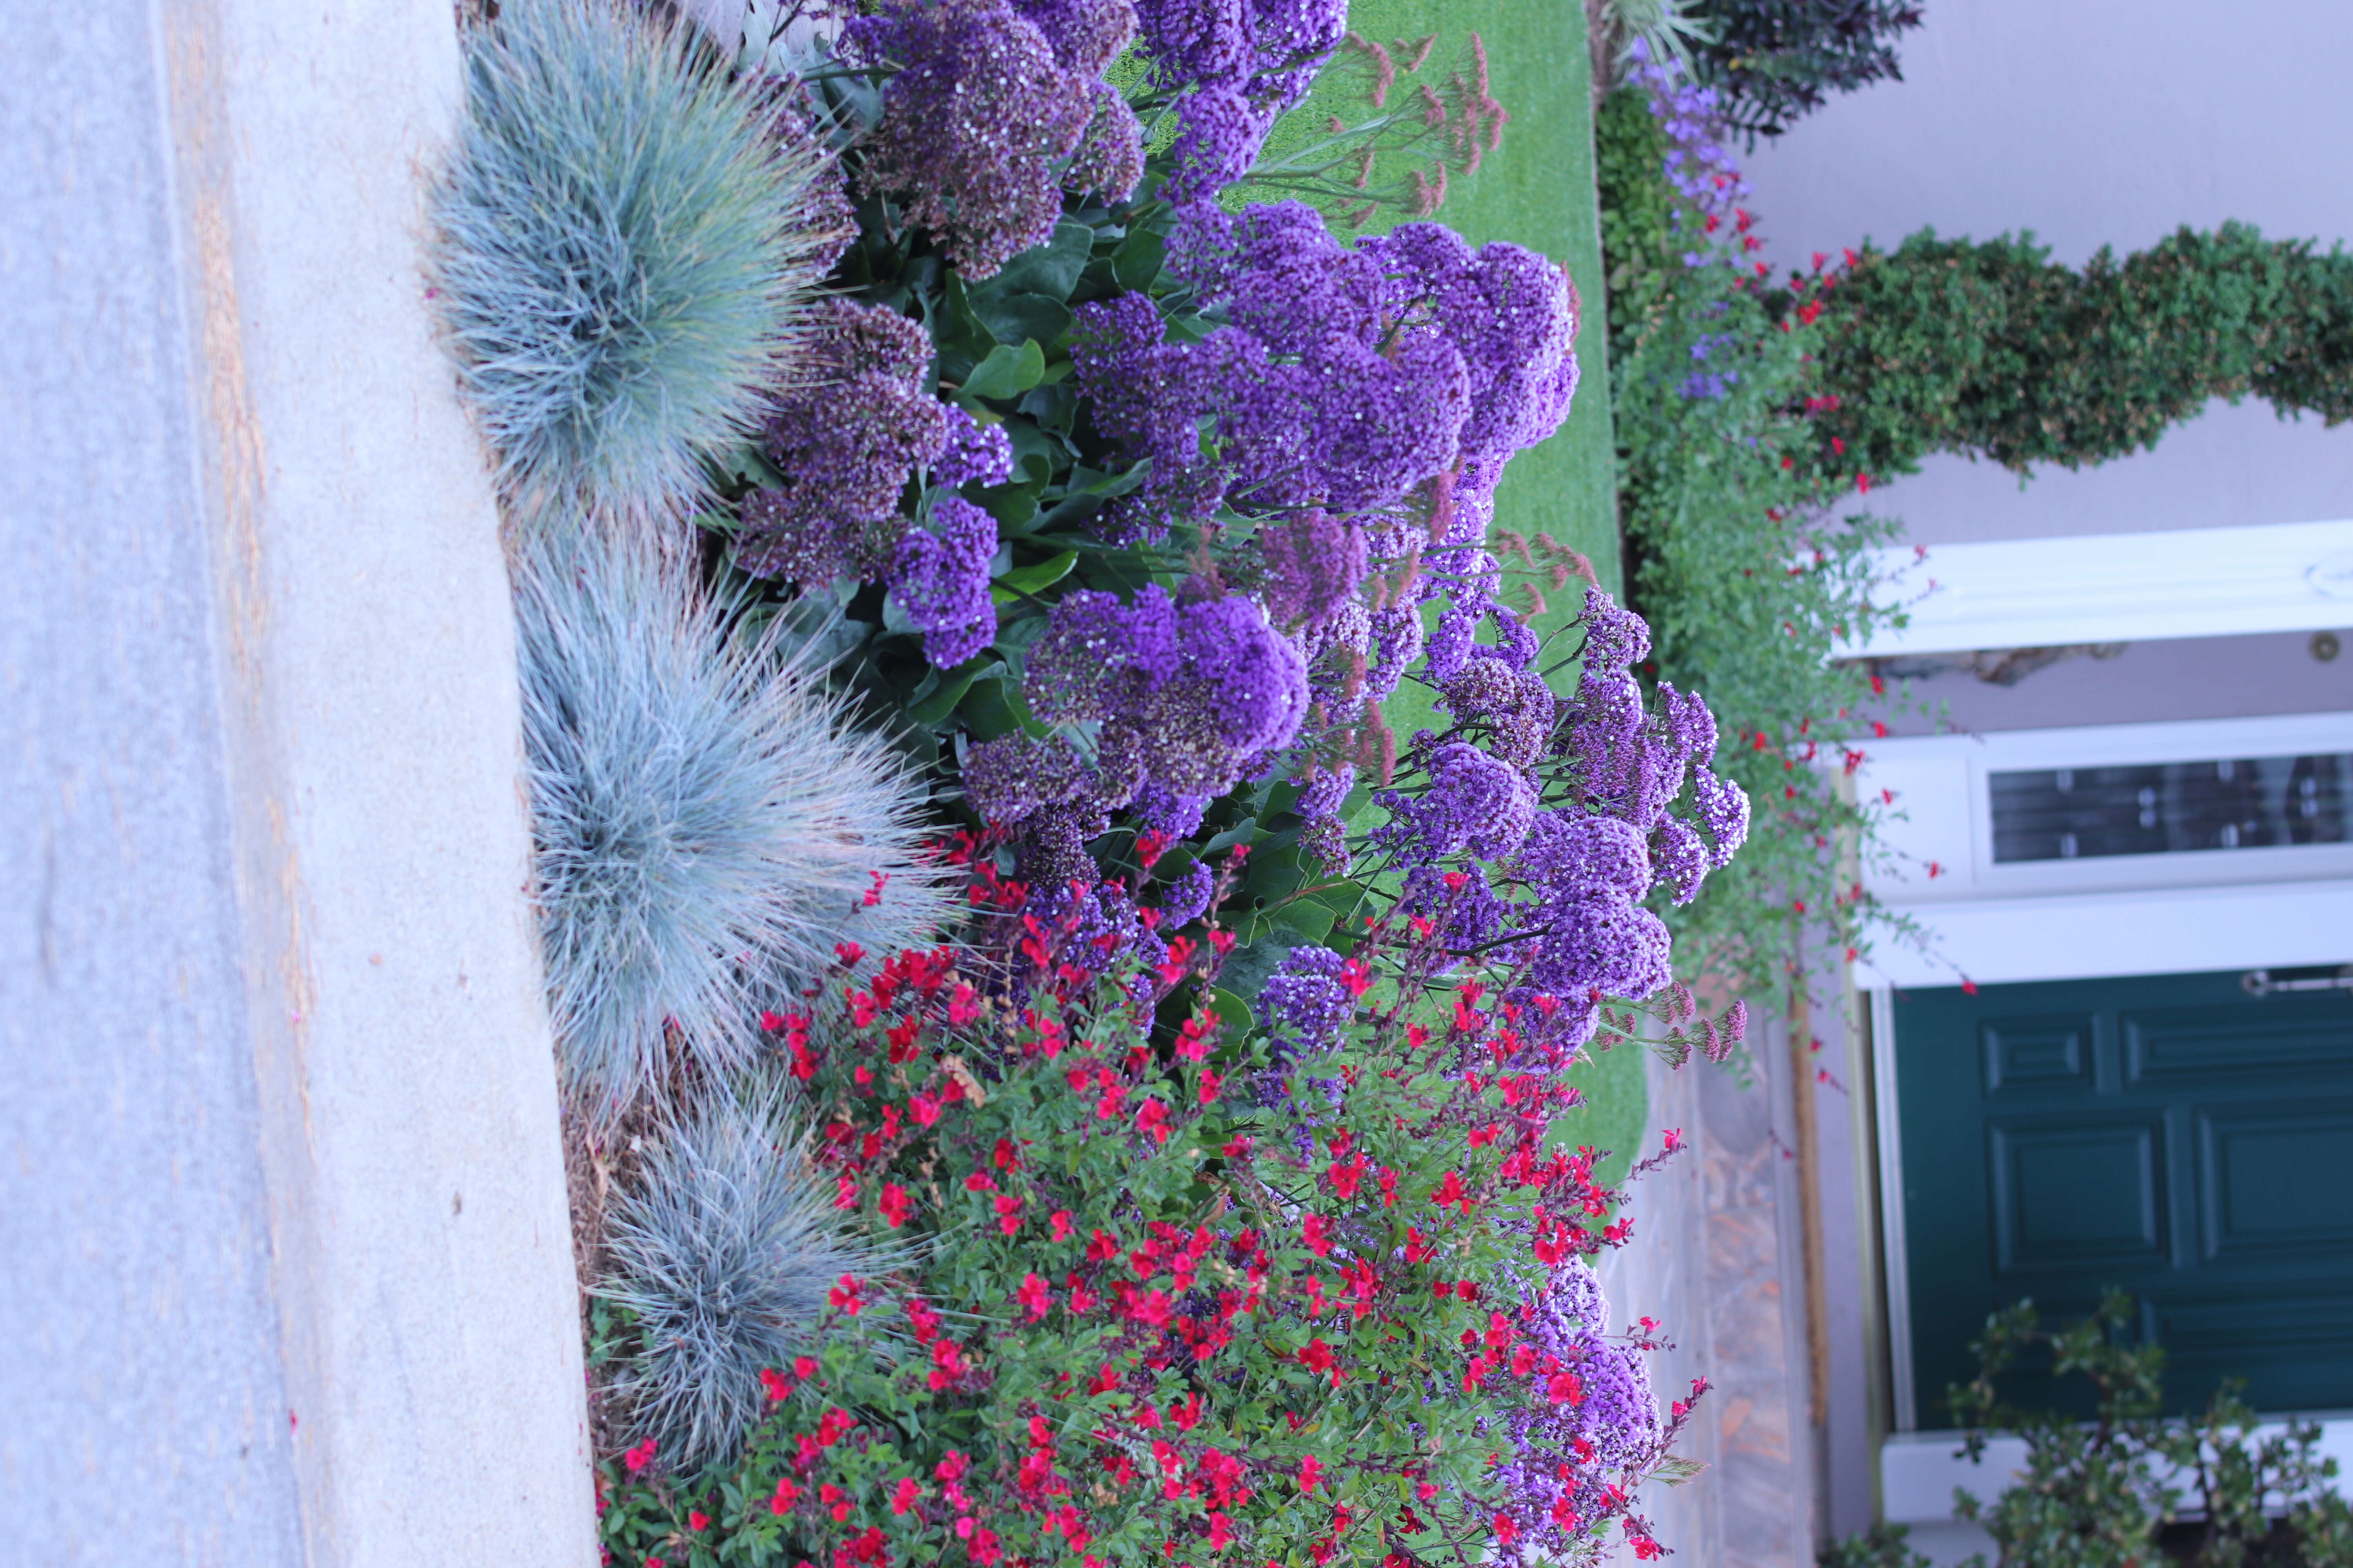
M 1325 512 L 1261 534 L 1285 623 L 1329 616 L 1332 583 L 1360 576 L 1348 520 L 1421 484 L 1452 496 L 1447 545 L 1482 543 L 1504 458 L 1560 428 L 1577 393 L 1577 292 L 1515 244 L 1409 223 L 1351 247 L 1304 202 L 1191 207 L 1169 268 L 1221 320 L 1205 341 L 1169 341 L 1136 294 L 1082 306 L 1073 341 L 1096 428 L 1151 461 L 1118 517 Z

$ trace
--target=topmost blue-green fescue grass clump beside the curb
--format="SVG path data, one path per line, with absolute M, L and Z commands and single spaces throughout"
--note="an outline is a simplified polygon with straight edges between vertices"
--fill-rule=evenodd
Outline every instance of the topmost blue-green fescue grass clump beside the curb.
M 508 501 L 645 517 L 793 374 L 824 153 L 682 24 L 508 0 L 466 47 L 438 299 Z

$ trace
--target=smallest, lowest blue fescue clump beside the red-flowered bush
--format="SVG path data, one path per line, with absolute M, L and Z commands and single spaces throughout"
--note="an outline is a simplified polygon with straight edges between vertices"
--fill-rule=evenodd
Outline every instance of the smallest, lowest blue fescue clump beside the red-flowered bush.
M 635 1316 L 612 1392 L 675 1472 L 732 1458 L 760 1418 L 760 1368 L 807 1347 L 842 1274 L 878 1258 L 833 1206 L 774 1086 L 711 1093 L 664 1128 L 616 1204 L 598 1295 Z

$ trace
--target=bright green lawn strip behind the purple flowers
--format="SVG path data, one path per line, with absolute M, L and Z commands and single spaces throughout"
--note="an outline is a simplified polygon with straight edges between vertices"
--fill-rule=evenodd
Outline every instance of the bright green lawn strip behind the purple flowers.
M 1609 433 L 1609 362 L 1602 329 L 1602 240 L 1593 183 L 1593 66 L 1586 49 L 1581 5 L 1529 5 L 1529 0 L 1355 0 L 1348 26 L 1381 42 L 1438 33 L 1424 73 L 1445 85 L 1445 66 L 1468 54 L 1468 33 L 1487 45 L 1489 92 L 1511 113 L 1501 146 L 1478 174 L 1452 181 L 1435 219 L 1473 244 L 1511 240 L 1539 249 L 1569 268 L 1584 301 L 1577 336 L 1581 383 L 1567 423 L 1541 447 L 1518 454 L 1504 470 L 1497 527 L 1518 534 L 1551 534 L 1591 557 L 1605 588 L 1621 588 L 1617 529 L 1617 447 Z M 1409 78 L 1419 80 L 1419 78 Z M 1313 134 L 1337 103 L 1311 99 L 1299 110 L 1301 132 Z M 1348 120 L 1360 106 L 1344 108 Z M 1386 228 L 1393 214 L 1367 228 Z M 1537 621 L 1553 632 L 1577 614 L 1577 585 L 1551 595 L 1551 614 Z M 1433 722 L 1419 689 L 1388 705 L 1400 741 Z M 1560 1124 L 1560 1135 L 1612 1150 L 1607 1180 L 1626 1171 L 1638 1152 L 1649 1098 L 1642 1086 L 1642 1051 L 1619 1046 L 1577 1074 L 1591 1110 Z

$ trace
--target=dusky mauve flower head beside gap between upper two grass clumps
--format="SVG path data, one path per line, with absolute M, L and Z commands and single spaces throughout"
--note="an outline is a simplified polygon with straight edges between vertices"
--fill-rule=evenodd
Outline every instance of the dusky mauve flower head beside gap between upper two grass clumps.
M 871 578 L 906 529 L 908 477 L 948 442 L 948 409 L 927 388 L 922 322 L 840 296 L 814 315 L 816 374 L 779 395 L 762 433 L 784 484 L 746 496 L 736 564 L 793 583 Z

